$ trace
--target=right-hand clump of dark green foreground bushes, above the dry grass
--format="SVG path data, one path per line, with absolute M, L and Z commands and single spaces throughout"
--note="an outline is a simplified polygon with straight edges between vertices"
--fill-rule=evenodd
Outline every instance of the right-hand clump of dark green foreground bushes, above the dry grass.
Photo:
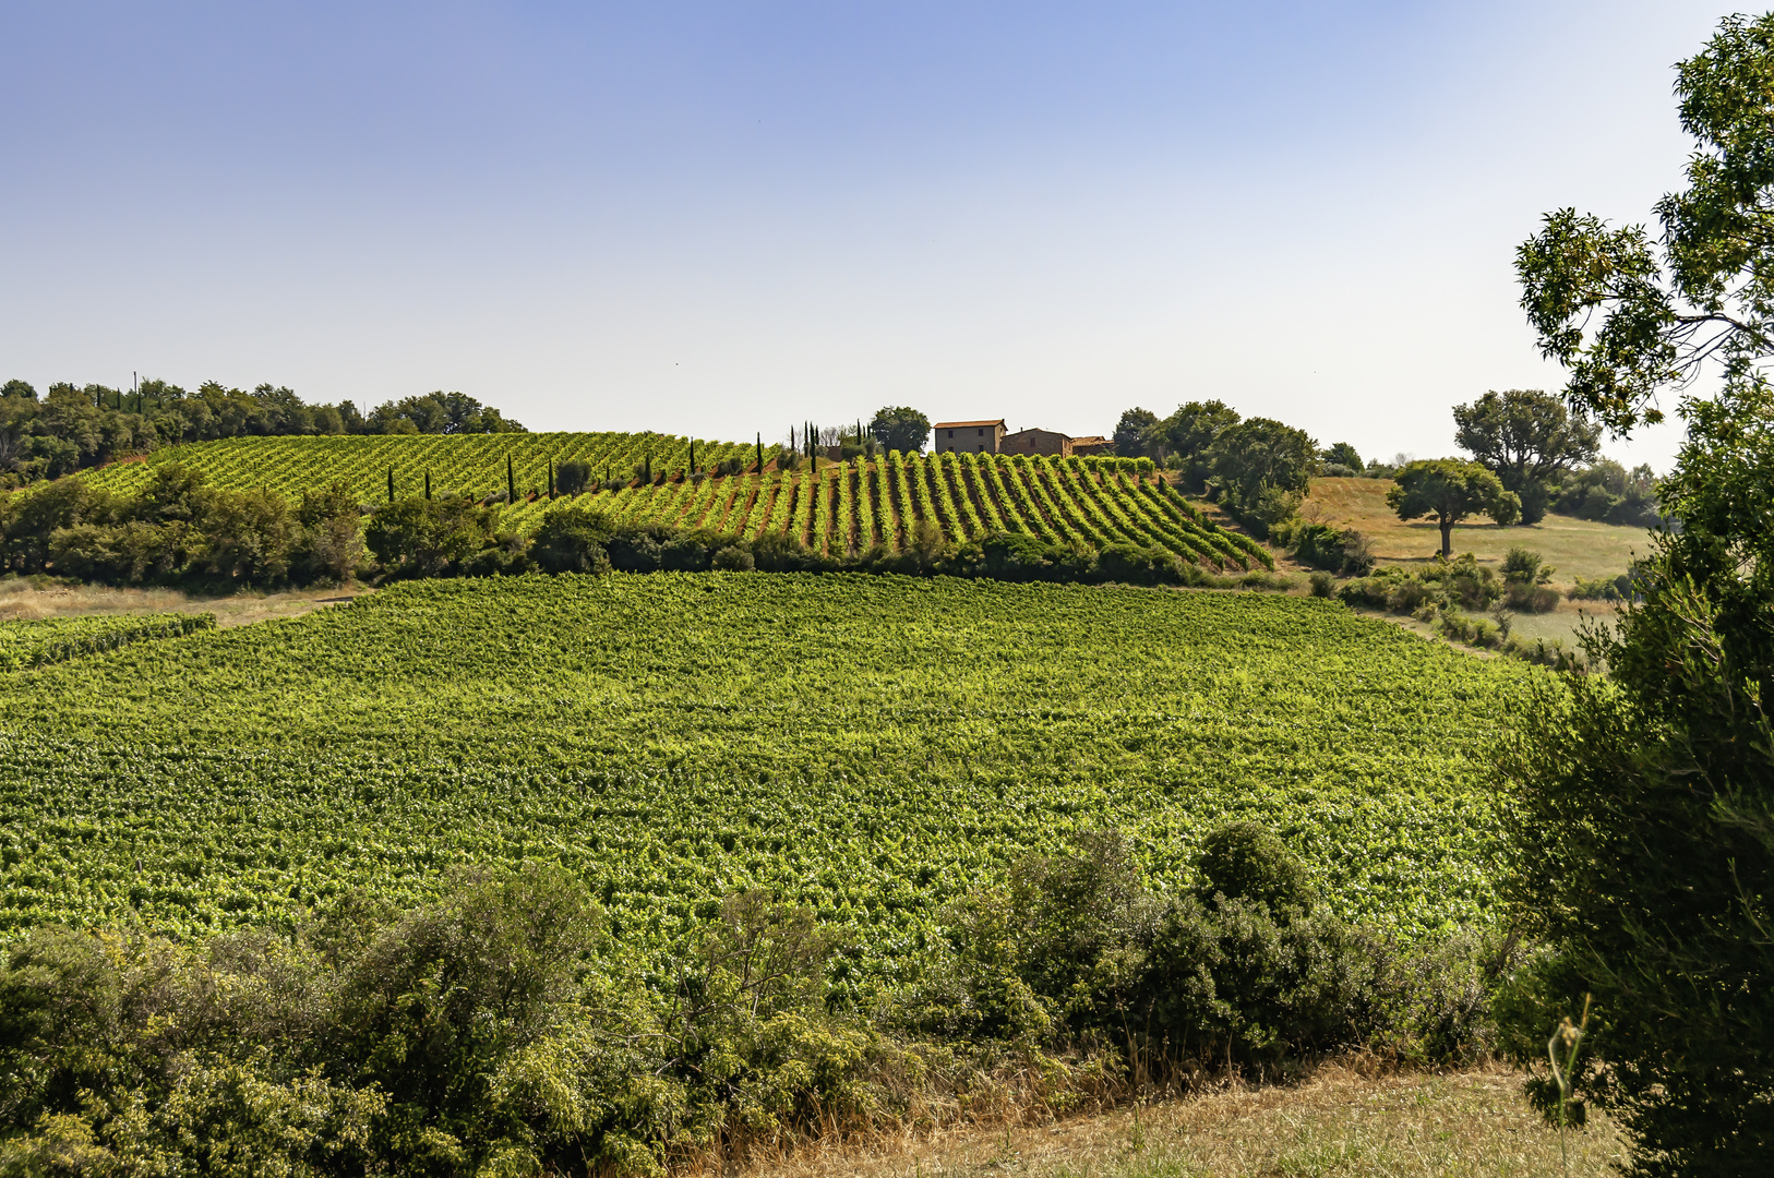
M 953 956 L 912 1008 L 949 1034 L 1025 1045 L 1059 1034 L 1137 1057 L 1265 1070 L 1355 1045 L 1419 1059 L 1485 1047 L 1506 951 L 1448 940 L 1400 953 L 1329 915 L 1268 839 L 1215 830 L 1208 844 L 1233 891 L 1274 905 L 1221 887 L 1206 903 L 1151 891 L 1118 834 L 1029 857 L 1008 889 L 970 892 L 944 912 Z M 1233 848 L 1251 853 L 1228 860 Z

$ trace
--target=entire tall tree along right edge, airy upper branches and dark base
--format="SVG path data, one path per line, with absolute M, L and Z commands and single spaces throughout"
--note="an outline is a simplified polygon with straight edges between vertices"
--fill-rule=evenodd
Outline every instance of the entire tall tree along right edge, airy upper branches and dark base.
M 1575 1098 L 1625 1128 L 1629 1173 L 1751 1174 L 1774 1157 L 1774 14 L 1724 20 L 1676 96 L 1698 147 L 1657 247 L 1563 209 L 1517 254 L 1574 412 L 1623 435 L 1721 383 L 1678 404 L 1659 499 L 1680 527 L 1586 642 L 1607 674 L 1522 711 L 1504 887 L 1552 953 L 1501 1013 L 1543 1061 L 1590 997 Z

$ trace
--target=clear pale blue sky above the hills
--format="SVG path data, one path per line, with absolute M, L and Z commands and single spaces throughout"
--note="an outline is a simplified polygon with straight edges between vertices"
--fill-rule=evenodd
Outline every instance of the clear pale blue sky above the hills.
M 1513 248 L 1680 183 L 1728 11 L 0 0 L 0 376 L 724 438 L 1217 396 L 1444 454 L 1559 385 Z

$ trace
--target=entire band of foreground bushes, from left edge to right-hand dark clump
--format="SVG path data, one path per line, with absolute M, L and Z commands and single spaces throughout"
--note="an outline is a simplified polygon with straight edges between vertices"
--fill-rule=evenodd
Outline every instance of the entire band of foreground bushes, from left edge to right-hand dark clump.
M 656 1173 L 1006 1086 L 1064 1107 L 1160 1064 L 1485 1043 L 1503 960 L 1341 924 L 1254 827 L 1215 834 L 1201 880 L 1151 894 L 1086 837 L 956 903 L 869 1008 L 828 986 L 846 949 L 807 910 L 733 896 L 640 960 L 539 866 L 206 944 L 37 930 L 0 972 L 0 1171 Z

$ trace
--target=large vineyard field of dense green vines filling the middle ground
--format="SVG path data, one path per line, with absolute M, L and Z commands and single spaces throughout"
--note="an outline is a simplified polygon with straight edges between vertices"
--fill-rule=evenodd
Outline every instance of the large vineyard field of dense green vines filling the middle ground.
M 1304 598 L 410 582 L 0 676 L 0 928 L 286 923 L 545 859 L 642 944 L 740 889 L 811 903 L 862 976 L 1071 832 L 1174 884 L 1236 816 L 1346 915 L 1483 924 L 1483 781 L 1533 674 Z

